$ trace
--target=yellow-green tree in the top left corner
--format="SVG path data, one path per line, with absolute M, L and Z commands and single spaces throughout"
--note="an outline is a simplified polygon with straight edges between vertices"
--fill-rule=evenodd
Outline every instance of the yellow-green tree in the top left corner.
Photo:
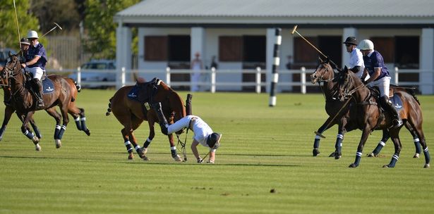
M 0 0 L 0 5 L 0 47 L 10 47 L 18 50 L 20 48 L 20 43 L 13 1 Z M 20 37 L 26 37 L 28 30 L 36 30 L 39 31 L 38 34 L 41 33 L 39 22 L 35 15 L 29 12 L 29 8 L 29 0 L 16 1 L 16 11 L 20 26 Z

